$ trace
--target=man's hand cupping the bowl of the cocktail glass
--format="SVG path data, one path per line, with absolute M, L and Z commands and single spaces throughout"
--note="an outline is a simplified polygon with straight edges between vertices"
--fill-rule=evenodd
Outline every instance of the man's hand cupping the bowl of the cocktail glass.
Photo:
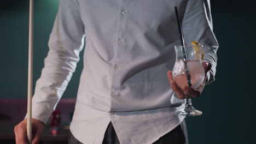
M 211 64 L 208 62 L 202 62 L 203 68 L 205 69 L 205 75 L 207 74 L 207 72 L 211 69 Z M 197 87 L 197 88 L 191 88 L 189 86 L 185 86 L 185 87 L 179 87 L 177 85 L 177 83 L 173 80 L 172 78 L 172 71 L 168 71 L 167 72 L 167 76 L 168 76 L 168 80 L 170 82 L 171 88 L 172 90 L 177 94 L 177 97 L 180 99 L 185 99 L 185 94 L 187 94 L 188 98 L 191 97 L 199 97 L 199 95 L 202 93 L 203 88 L 205 88 L 205 82 L 206 82 L 206 76 L 205 76 L 205 80 L 203 81 L 203 83 Z

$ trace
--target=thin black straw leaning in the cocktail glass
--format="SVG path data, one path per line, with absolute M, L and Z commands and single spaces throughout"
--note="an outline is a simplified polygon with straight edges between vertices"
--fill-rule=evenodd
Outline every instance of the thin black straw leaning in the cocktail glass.
M 184 38 L 183 38 L 183 33 L 182 33 L 182 28 L 181 28 L 181 21 L 179 20 L 179 14 L 178 14 L 177 6 L 175 6 L 174 8 L 175 8 L 176 19 L 177 19 L 178 28 L 179 28 L 179 38 L 181 39 L 181 45 L 183 46 L 182 51 L 183 51 L 184 67 L 185 67 L 186 74 L 187 74 L 188 85 L 189 85 L 189 87 L 191 87 L 192 86 L 191 77 L 190 77 L 190 73 L 189 73 L 189 69 L 188 69 L 188 65 L 187 65 L 187 55 L 186 55 L 185 49 L 184 49 Z

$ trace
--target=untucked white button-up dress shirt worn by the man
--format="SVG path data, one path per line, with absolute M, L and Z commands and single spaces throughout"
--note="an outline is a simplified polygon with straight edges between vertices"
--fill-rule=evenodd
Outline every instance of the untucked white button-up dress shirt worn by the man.
M 218 43 L 210 1 L 61 0 L 49 52 L 36 83 L 32 117 L 46 123 L 72 77 L 86 41 L 71 132 L 79 141 L 102 143 L 111 121 L 121 144 L 153 143 L 184 117 L 184 100 L 173 95 L 167 71 L 180 45 L 174 6 L 185 43 L 199 41 L 216 72 Z M 85 36 L 86 35 L 86 36 Z M 208 82 L 208 83 L 209 83 Z

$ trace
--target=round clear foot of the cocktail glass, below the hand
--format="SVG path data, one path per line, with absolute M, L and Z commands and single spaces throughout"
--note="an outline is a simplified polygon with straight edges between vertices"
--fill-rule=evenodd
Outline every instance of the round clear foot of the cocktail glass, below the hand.
M 193 106 L 186 106 L 181 110 L 175 111 L 175 114 L 178 116 L 200 116 L 202 112 L 194 109 Z

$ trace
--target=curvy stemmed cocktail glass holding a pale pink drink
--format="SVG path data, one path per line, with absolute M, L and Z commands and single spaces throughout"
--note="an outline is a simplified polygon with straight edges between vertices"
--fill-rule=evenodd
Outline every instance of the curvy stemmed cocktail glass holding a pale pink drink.
M 179 87 L 183 88 L 191 83 L 191 88 L 197 88 L 205 80 L 205 70 L 201 62 L 202 48 L 203 46 L 174 46 L 176 62 L 172 76 Z M 194 109 L 191 98 L 188 98 L 187 94 L 185 94 L 185 107 L 175 111 L 175 113 L 181 116 L 202 115 L 201 111 Z

